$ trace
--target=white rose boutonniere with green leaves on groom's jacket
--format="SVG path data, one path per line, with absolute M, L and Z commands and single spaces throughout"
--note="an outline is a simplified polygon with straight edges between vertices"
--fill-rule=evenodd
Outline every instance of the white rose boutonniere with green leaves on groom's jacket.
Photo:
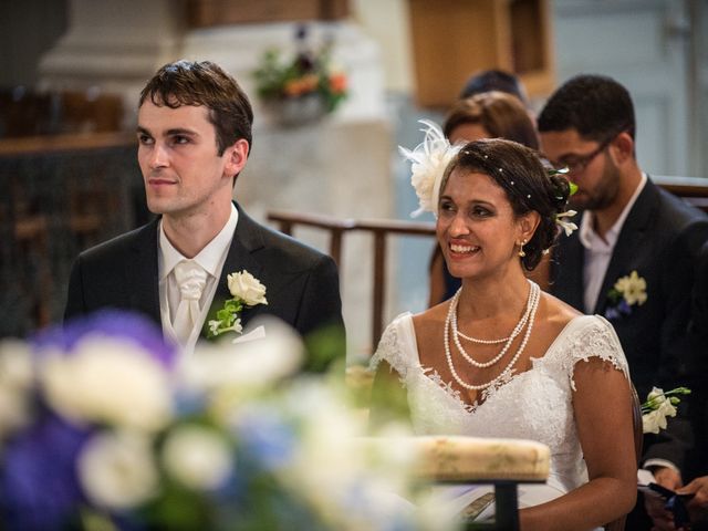
M 240 334 L 241 312 L 244 308 L 257 304 L 268 304 L 266 287 L 248 271 L 231 273 L 227 277 L 229 291 L 233 295 L 223 302 L 223 308 L 217 311 L 215 320 L 208 322 L 207 339 L 212 340 L 226 332 Z

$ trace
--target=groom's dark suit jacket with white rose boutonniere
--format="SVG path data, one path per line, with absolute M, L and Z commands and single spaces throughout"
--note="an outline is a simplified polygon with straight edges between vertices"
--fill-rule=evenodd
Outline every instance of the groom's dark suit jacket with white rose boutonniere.
M 344 355 L 344 323 L 339 275 L 334 261 L 296 240 L 263 227 L 237 205 L 239 220 L 212 308 L 231 294 L 229 273 L 248 270 L 263 285 L 268 305 L 246 309 L 241 323 L 271 314 L 292 325 L 303 337 L 327 327 L 334 344 L 326 345 L 327 360 L 310 360 L 308 368 L 323 368 L 332 355 Z M 64 320 L 98 309 L 139 312 L 160 323 L 158 289 L 158 221 L 82 252 L 75 261 Z M 339 351 L 339 352 L 336 352 Z

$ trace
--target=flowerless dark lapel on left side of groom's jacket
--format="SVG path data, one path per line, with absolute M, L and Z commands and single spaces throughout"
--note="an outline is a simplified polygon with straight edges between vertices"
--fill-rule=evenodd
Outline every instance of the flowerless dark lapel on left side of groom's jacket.
M 129 305 L 149 315 L 160 327 L 159 279 L 157 273 L 157 227 L 159 218 L 146 225 L 133 242 L 132 263 L 126 264 Z

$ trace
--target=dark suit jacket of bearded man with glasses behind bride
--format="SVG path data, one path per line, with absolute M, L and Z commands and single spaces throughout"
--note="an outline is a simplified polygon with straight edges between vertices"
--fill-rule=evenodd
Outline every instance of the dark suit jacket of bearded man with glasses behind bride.
M 584 248 L 577 232 L 561 236 L 551 269 L 551 292 L 585 312 Z M 694 268 L 707 239 L 708 217 L 704 212 L 647 180 L 622 227 L 595 308 L 587 309 L 587 313 L 604 315 L 607 292 L 617 279 L 634 270 L 646 280 L 646 302 L 632 306 L 629 315 L 612 320 L 642 400 L 652 386 L 668 391 L 687 383 Z M 680 420 L 669 421 L 669 427 L 645 437 L 644 457 L 669 459 L 681 468 L 693 435 Z

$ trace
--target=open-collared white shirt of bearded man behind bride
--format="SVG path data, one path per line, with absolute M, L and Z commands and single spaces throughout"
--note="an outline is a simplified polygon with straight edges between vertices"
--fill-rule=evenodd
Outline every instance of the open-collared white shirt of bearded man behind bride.
M 583 212 L 583 219 L 580 223 L 580 231 L 577 233 L 581 243 L 585 248 L 583 260 L 583 285 L 584 285 L 584 300 L 585 312 L 593 313 L 600 296 L 600 290 L 602 289 L 603 281 L 605 280 L 605 273 L 612 259 L 612 253 L 620 238 L 620 232 L 624 226 L 629 210 L 639 197 L 639 194 L 646 185 L 647 176 L 642 173 L 642 180 L 636 190 L 629 198 L 629 201 L 622 210 L 622 214 L 605 233 L 605 237 L 601 237 L 595 232 L 593 228 L 594 215 L 591 210 Z

